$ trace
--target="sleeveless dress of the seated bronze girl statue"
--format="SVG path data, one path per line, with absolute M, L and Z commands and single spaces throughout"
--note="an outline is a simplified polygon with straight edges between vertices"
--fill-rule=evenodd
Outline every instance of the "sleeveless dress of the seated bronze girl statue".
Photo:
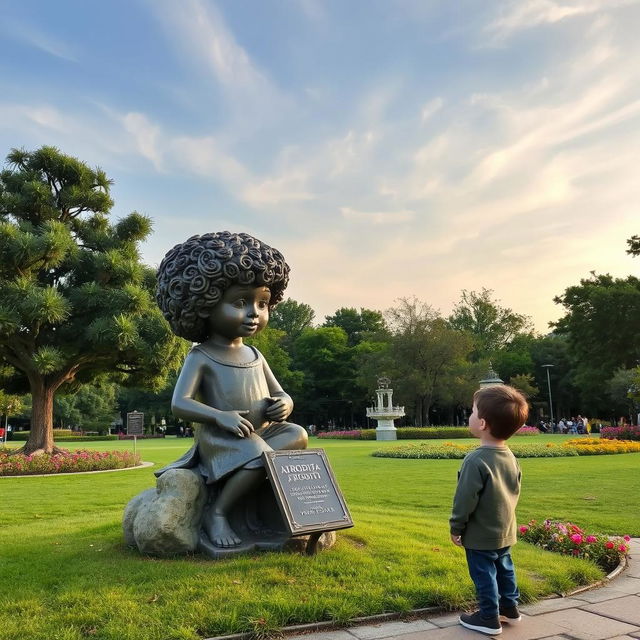
M 258 469 L 263 467 L 261 455 L 273 451 L 269 441 L 278 436 L 277 448 L 298 448 L 302 427 L 289 422 L 265 421 L 264 412 L 271 393 L 265 377 L 268 367 L 264 356 L 255 348 L 255 360 L 246 364 L 235 364 L 220 360 L 208 353 L 202 346 L 191 349 L 187 356 L 203 354 L 206 366 L 199 388 L 199 400 L 221 411 L 244 411 L 245 417 L 255 431 L 248 437 L 240 438 L 213 424 L 203 424 L 196 429 L 195 443 L 181 458 L 155 472 L 162 475 L 169 469 L 198 468 L 207 484 L 213 484 L 237 469 Z M 288 437 L 290 436 L 290 438 Z M 306 437 L 306 436 L 305 436 Z M 282 446 L 283 442 L 285 446 Z

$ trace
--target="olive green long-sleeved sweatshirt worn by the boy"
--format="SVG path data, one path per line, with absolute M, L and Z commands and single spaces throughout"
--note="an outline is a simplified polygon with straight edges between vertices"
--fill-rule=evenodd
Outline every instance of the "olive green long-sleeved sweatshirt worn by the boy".
M 509 447 L 478 447 L 458 472 L 449 526 L 467 549 L 493 550 L 516 542 L 522 473 Z

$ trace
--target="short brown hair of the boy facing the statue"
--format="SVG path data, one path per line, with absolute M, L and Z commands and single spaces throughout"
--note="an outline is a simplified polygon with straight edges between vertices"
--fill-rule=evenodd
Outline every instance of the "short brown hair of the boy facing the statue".
M 513 387 L 497 384 L 478 389 L 473 394 L 478 417 L 484 419 L 494 438 L 510 438 L 529 416 L 525 397 Z

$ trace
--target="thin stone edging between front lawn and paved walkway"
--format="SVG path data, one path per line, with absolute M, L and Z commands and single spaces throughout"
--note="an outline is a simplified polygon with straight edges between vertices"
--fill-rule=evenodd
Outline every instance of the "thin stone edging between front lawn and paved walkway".
M 608 573 L 602 580 L 598 580 L 597 582 L 586 585 L 584 587 L 578 587 L 577 589 L 574 589 L 573 591 L 568 591 L 567 593 L 559 593 L 559 594 L 556 594 L 555 596 L 548 596 L 546 598 L 543 598 L 543 600 L 551 600 L 557 597 L 569 598 L 578 593 L 583 593 L 584 591 L 589 591 L 590 589 L 597 589 L 598 587 L 602 587 L 608 582 L 611 582 L 611 580 L 613 580 L 614 578 L 617 578 L 627 568 L 628 565 L 629 565 L 629 559 L 625 555 L 622 557 L 620 564 L 618 564 L 618 566 L 613 571 Z M 377 624 L 379 622 L 387 622 L 389 620 L 401 620 L 401 619 L 404 620 L 404 619 L 410 619 L 413 617 L 418 618 L 430 613 L 441 613 L 442 611 L 443 609 L 441 609 L 440 607 L 425 607 L 423 609 L 411 609 L 411 611 L 404 611 L 404 612 L 379 613 L 373 616 L 363 616 L 361 618 L 353 618 L 352 620 L 349 620 L 347 625 L 336 624 L 335 621 L 333 620 L 324 620 L 322 622 L 308 622 L 307 624 L 296 624 L 289 627 L 283 627 L 280 630 L 279 635 L 286 636 L 286 635 L 292 635 L 296 633 L 309 633 L 313 631 L 340 629 L 340 628 L 344 628 L 345 626 L 351 627 L 351 626 L 357 626 L 365 623 Z M 255 637 L 254 633 L 250 631 L 246 631 L 244 633 L 234 633 L 228 636 L 213 636 L 211 638 L 204 638 L 204 640 L 250 640 L 253 637 Z

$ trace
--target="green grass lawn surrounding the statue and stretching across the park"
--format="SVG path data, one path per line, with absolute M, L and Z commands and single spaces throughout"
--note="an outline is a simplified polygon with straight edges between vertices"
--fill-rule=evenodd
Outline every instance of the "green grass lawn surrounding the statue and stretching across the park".
M 327 451 L 355 522 L 339 532 L 336 547 L 312 558 L 264 553 L 158 560 L 125 548 L 122 512 L 154 485 L 151 468 L 0 478 L 0 638 L 196 640 L 383 611 L 462 607 L 473 600 L 473 588 L 447 526 L 460 461 L 369 455 L 395 444 L 312 440 L 310 446 Z M 139 441 L 138 450 L 161 466 L 190 445 L 167 438 Z M 126 449 L 133 443 L 78 447 Z M 520 464 L 521 523 L 550 517 L 588 532 L 640 535 L 640 454 Z M 522 543 L 514 559 L 526 601 L 601 576 L 586 561 Z

